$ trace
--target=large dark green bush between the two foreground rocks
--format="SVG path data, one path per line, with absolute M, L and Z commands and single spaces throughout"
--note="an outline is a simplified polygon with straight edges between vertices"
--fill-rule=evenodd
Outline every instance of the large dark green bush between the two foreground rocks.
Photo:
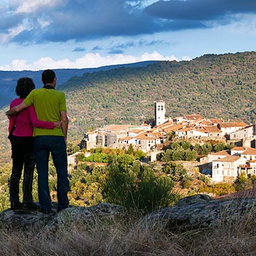
M 105 201 L 124 206 L 127 210 L 149 213 L 174 202 L 173 186 L 171 178 L 156 177 L 149 166 L 141 166 L 139 161 L 126 168 L 114 161 L 107 167 L 102 195 Z

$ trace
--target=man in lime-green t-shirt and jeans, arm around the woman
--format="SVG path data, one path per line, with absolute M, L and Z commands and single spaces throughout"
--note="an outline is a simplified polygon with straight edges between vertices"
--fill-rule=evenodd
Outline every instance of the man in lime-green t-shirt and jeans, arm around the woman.
M 43 213 L 51 213 L 50 190 L 48 186 L 48 159 L 51 153 L 57 171 L 58 212 L 68 208 L 68 161 L 66 153 L 68 116 L 65 94 L 55 90 L 56 77 L 53 70 L 42 73 L 43 88 L 32 90 L 23 102 L 6 112 L 17 114 L 24 108 L 34 105 L 38 119 L 48 122 L 62 122 L 62 129 L 34 128 L 35 158 L 38 171 L 38 197 Z

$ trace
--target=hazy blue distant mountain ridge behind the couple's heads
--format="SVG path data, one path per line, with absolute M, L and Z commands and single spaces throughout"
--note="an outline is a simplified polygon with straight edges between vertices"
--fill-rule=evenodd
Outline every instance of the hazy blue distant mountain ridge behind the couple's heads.
M 100 68 L 68 68 L 68 69 L 55 69 L 56 76 L 58 78 L 58 85 L 61 85 L 63 82 L 67 82 L 70 78 L 75 76 L 82 76 L 85 73 L 93 73 L 97 71 L 105 71 L 113 68 L 120 67 L 144 67 L 146 65 L 156 63 L 156 61 L 143 61 L 139 63 L 129 63 L 129 64 L 119 64 L 119 65 L 107 65 Z M 41 73 L 43 70 L 31 71 L 1 71 L 0 70 L 0 108 L 6 105 L 9 105 L 11 100 L 16 97 L 15 87 L 18 78 L 28 77 L 32 78 L 36 84 L 36 87 L 41 87 Z

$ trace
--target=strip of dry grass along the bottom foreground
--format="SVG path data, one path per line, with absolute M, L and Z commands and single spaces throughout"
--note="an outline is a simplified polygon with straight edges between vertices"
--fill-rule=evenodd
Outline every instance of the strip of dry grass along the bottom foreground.
M 256 208 L 214 229 L 172 233 L 134 219 L 87 225 L 76 220 L 55 230 L 0 230 L 0 256 L 16 255 L 256 255 Z M 225 218 L 225 219 L 224 219 Z M 136 223 L 136 224 L 134 224 Z

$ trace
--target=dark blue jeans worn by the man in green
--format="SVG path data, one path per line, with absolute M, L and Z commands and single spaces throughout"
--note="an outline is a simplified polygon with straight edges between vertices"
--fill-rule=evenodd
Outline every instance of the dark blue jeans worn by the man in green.
M 68 208 L 68 159 L 64 137 L 52 135 L 36 136 L 34 150 L 36 169 L 38 171 L 38 198 L 41 209 L 49 211 L 52 208 L 48 184 L 50 153 L 57 171 L 58 211 Z

